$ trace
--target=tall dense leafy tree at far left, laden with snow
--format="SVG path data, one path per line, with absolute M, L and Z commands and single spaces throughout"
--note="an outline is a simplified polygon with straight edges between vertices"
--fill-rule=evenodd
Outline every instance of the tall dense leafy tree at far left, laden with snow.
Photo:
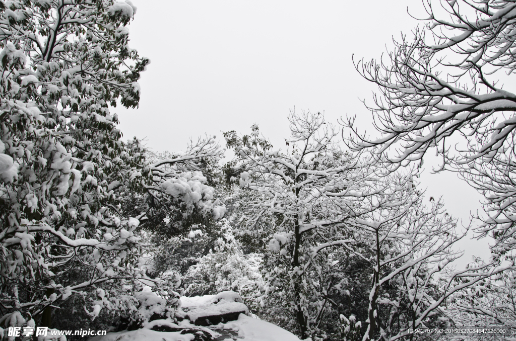
M 152 164 L 138 140 L 120 140 L 110 107 L 138 105 L 149 63 L 128 47 L 135 11 L 129 1 L 0 3 L 2 327 L 27 313 L 50 326 L 51 305 L 74 297 L 91 318 L 118 311 L 132 303 L 117 281 L 166 291 L 138 263 L 146 211 L 223 215 L 202 174 L 164 166 L 220 156 L 213 139 Z

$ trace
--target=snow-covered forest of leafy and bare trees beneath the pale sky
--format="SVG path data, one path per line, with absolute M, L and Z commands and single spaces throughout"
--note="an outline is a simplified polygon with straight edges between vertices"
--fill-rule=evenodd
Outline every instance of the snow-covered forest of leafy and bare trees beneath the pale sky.
M 257 122 L 168 151 L 117 128 L 150 63 L 130 1 L 0 0 L 0 339 L 516 340 L 516 1 L 423 6 L 349 61 L 374 129 L 293 109 L 282 145 Z M 483 196 L 469 224 L 427 154 Z M 458 266 L 471 237 L 491 257 Z

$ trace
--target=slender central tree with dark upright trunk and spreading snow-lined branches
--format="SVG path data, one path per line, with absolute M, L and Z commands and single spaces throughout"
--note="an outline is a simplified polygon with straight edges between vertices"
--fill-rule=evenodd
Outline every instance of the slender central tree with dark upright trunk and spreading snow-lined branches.
M 305 338 L 326 309 L 329 283 L 318 278 L 335 265 L 317 257 L 325 249 L 320 245 L 345 247 L 345 221 L 362 214 L 360 201 L 381 189 L 368 186 L 375 167 L 361 155 L 343 152 L 334 139 L 338 131 L 320 113 L 292 113 L 289 121 L 292 134 L 285 151 L 273 150 L 257 126 L 243 137 L 224 133 L 236 155 L 225 172 L 261 195 L 245 207 L 243 233 L 252 234 L 269 221 L 267 278 L 297 322 L 291 327 Z

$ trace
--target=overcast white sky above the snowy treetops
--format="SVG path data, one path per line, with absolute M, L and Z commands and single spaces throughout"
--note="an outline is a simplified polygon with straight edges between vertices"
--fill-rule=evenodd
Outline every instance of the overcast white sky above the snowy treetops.
M 356 59 L 379 58 L 392 37 L 410 33 L 423 17 L 414 0 L 221 1 L 133 0 L 131 47 L 151 59 L 142 73 L 140 106 L 117 108 L 125 138 L 147 138 L 155 150 L 185 149 L 190 138 L 221 131 L 248 133 L 257 123 L 273 145 L 287 137 L 289 110 L 324 111 L 328 122 L 371 114 L 360 99 L 374 88 L 354 69 Z M 421 25 L 421 23 L 420 23 Z M 359 99 L 360 98 L 360 99 Z M 371 131 L 371 134 L 374 132 Z M 425 159 L 430 169 L 431 159 Z M 454 174 L 421 177 L 427 194 L 443 196 L 465 223 L 480 195 Z M 461 244 L 488 257 L 488 242 Z

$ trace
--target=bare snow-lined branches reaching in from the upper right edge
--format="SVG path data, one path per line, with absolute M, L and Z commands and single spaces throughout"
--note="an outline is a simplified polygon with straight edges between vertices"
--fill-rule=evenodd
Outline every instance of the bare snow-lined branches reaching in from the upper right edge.
M 516 66 L 516 4 L 459 0 L 436 5 L 428 0 L 424 5 L 425 26 L 413 37 L 402 36 L 381 62 L 356 64 L 378 85 L 369 109 L 382 137 L 370 140 L 356 133 L 351 145 L 381 146 L 392 168 L 411 161 L 421 165 L 426 152 L 437 149 L 442 157 L 437 171 L 459 172 L 485 196 L 479 232 L 492 231 L 493 251 L 508 255 L 516 243 L 516 94 L 502 89 L 496 75 L 511 75 Z M 353 126 L 352 120 L 346 125 Z

